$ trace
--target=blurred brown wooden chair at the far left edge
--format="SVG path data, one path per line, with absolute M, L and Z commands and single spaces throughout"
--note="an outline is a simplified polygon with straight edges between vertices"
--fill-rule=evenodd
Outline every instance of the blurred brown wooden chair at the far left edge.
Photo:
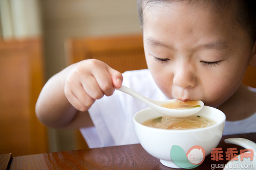
M 45 126 L 35 115 L 44 85 L 41 39 L 0 40 L 0 154 L 45 153 Z

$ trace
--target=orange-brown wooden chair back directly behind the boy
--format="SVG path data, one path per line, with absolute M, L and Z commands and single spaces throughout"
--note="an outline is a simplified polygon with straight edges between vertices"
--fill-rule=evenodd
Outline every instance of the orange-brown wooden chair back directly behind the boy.
M 109 64 L 120 72 L 147 68 L 141 34 L 72 38 L 67 40 L 65 49 L 68 65 L 94 58 Z M 243 82 L 256 87 L 256 68 L 248 67 Z M 80 147 L 86 146 L 79 133 L 78 138 Z

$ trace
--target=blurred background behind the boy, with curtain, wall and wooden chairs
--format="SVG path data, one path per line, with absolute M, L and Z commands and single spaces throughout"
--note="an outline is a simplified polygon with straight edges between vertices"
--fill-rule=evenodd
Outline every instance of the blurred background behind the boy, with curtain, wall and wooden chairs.
M 136 0 L 0 0 L 0 154 L 87 147 L 78 130 L 47 128 L 35 116 L 46 81 L 85 56 L 111 59 L 119 71 L 146 68 Z M 247 70 L 244 83 L 256 87 L 256 68 Z

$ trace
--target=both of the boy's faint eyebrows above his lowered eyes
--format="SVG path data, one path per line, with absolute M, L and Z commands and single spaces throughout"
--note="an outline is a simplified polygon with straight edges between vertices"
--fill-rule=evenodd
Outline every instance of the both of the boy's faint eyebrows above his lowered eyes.
M 145 42 L 147 44 L 150 44 L 152 46 L 156 46 L 156 47 L 166 47 L 166 48 L 170 48 L 170 49 L 174 49 L 174 47 L 172 45 L 168 45 L 165 44 L 161 41 L 157 41 L 153 38 L 146 38 Z M 200 44 L 199 46 L 196 47 L 196 49 L 205 49 L 205 50 L 210 50 L 210 49 L 215 49 L 215 50 L 224 50 L 227 49 L 228 43 L 226 41 L 222 41 L 222 40 L 217 40 L 217 41 L 213 41 L 213 42 L 209 42 L 209 43 L 205 43 L 205 44 Z

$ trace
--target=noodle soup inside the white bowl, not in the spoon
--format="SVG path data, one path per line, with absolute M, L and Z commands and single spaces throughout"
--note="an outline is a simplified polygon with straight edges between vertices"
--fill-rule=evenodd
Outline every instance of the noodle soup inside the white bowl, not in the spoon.
M 214 125 L 215 122 L 203 116 L 171 117 L 161 116 L 146 120 L 142 125 L 160 129 L 196 129 Z

